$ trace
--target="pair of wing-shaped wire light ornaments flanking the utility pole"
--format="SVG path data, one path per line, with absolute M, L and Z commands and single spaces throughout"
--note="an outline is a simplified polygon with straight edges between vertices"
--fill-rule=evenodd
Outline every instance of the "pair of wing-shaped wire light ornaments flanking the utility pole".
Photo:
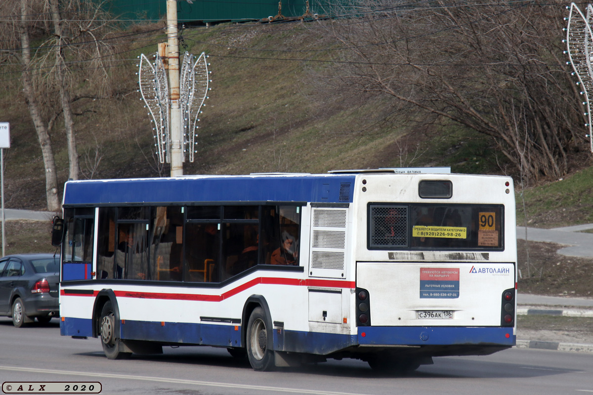
M 208 63 L 202 52 L 197 60 L 192 54 L 185 53 L 180 73 L 181 125 L 183 127 L 183 152 L 193 162 L 195 137 L 197 136 L 198 115 L 208 93 Z M 171 105 L 167 84 L 167 72 L 162 57 L 155 56 L 151 63 L 143 54 L 140 56 L 138 72 L 139 92 L 148 108 L 151 122 L 154 122 L 154 139 L 157 156 L 161 163 L 171 163 Z M 185 156 L 185 155 L 184 155 Z

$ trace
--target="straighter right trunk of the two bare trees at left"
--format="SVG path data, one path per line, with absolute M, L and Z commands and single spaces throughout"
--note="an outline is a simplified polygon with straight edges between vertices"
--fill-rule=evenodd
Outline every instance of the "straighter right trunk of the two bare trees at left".
M 64 127 L 66 129 L 66 142 L 68 143 L 68 161 L 70 163 L 68 178 L 78 179 L 78 152 L 76 150 L 76 137 L 74 133 L 74 115 L 72 111 L 72 100 L 68 91 L 68 82 L 66 81 L 66 65 L 63 56 L 63 44 L 65 37 L 62 30 L 62 18 L 60 18 L 59 1 L 49 0 L 52 10 L 53 29 L 58 44 L 56 45 L 56 77 L 60 88 L 60 100 L 62 101 L 62 110 L 64 114 Z

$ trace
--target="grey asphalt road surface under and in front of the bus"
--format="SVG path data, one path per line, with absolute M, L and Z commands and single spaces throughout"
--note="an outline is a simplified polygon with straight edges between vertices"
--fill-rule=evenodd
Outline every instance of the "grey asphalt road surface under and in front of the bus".
M 381 377 L 352 360 L 254 372 L 209 347 L 110 361 L 98 339 L 59 336 L 56 319 L 17 329 L 0 318 L 0 383 L 98 381 L 101 394 L 582 394 L 593 393 L 592 375 L 592 354 L 533 349 L 435 358 L 403 377 Z

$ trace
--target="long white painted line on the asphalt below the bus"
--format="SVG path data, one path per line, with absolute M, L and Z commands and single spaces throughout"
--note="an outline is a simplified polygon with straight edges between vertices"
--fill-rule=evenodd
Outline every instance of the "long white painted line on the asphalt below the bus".
M 179 378 L 135 376 L 135 375 L 125 375 L 125 374 L 104 373 L 104 372 L 88 373 L 88 372 L 76 372 L 76 371 L 68 371 L 68 370 L 37 369 L 37 368 L 12 367 L 12 366 L 0 366 L 0 370 L 21 371 L 21 372 L 25 371 L 25 372 L 35 372 L 35 373 L 47 373 L 47 374 L 71 374 L 71 375 L 79 375 L 79 376 L 106 377 L 106 378 L 122 378 L 125 380 L 158 381 L 160 383 L 192 384 L 194 386 L 241 388 L 241 389 L 248 389 L 248 390 L 278 391 L 278 392 L 313 394 L 313 395 L 369 395 L 369 394 L 355 394 L 355 393 L 335 392 L 335 391 L 305 390 L 305 389 L 285 388 L 285 387 L 250 386 L 248 384 L 215 383 L 213 381 L 183 380 L 183 379 L 179 379 Z

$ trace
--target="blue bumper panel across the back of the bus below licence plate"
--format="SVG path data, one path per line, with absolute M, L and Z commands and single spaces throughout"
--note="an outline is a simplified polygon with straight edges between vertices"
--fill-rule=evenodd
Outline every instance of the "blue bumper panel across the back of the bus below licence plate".
M 508 337 L 507 337 L 508 336 Z M 368 326 L 358 328 L 359 345 L 515 345 L 512 327 Z

